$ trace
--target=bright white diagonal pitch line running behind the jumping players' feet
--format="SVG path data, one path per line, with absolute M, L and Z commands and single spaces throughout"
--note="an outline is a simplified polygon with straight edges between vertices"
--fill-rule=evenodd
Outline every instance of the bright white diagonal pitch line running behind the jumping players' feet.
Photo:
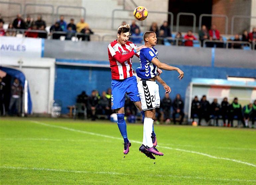
M 43 122 L 39 122 L 39 121 L 31 121 L 31 122 L 36 123 L 36 124 L 40 124 L 40 125 L 44 125 L 44 126 L 61 128 L 61 129 L 69 130 L 69 131 L 73 131 L 73 132 L 80 132 L 80 133 L 96 135 L 96 136 L 100 136 L 100 137 L 106 137 L 106 138 L 111 138 L 111 139 L 123 140 L 122 138 L 119 138 L 119 137 L 112 137 L 112 136 L 108 136 L 108 135 L 97 134 L 97 133 L 94 133 L 94 132 L 87 132 L 87 131 L 77 130 L 77 129 L 68 128 L 68 127 L 64 127 L 64 126 L 47 124 L 47 123 L 43 123 Z M 139 142 L 139 141 L 134 141 L 134 140 L 130 140 L 130 141 L 133 142 L 133 143 L 141 144 L 141 142 Z M 252 163 L 249 163 L 249 162 L 243 162 L 243 161 L 239 161 L 239 160 L 235 160 L 235 159 L 220 158 L 220 157 L 212 156 L 212 155 L 209 155 L 209 154 L 204 154 L 204 153 L 201 153 L 201 152 L 195 152 L 195 151 L 191 151 L 191 150 L 184 150 L 184 149 L 180 149 L 180 148 L 171 148 L 171 147 L 164 147 L 164 146 L 159 146 L 159 147 L 162 147 L 162 148 L 165 148 L 165 149 L 170 149 L 170 150 L 177 150 L 177 151 L 182 151 L 182 152 L 188 152 L 188 153 L 192 153 L 192 154 L 198 154 L 198 155 L 206 156 L 206 157 L 213 158 L 213 159 L 221 159 L 221 160 L 238 162 L 238 163 L 242 163 L 242 164 L 246 164 L 246 165 L 249 165 L 249 166 L 256 167 L 255 164 L 252 164 Z

